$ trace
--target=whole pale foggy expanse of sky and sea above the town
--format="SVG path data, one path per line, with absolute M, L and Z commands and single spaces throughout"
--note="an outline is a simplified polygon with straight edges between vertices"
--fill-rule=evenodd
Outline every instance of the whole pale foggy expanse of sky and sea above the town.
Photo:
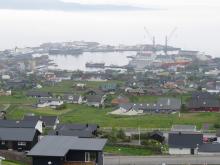
M 158 44 L 178 27 L 169 44 L 220 56 L 220 0 L 0 0 L 0 22 L 0 50 L 75 40 L 149 44 L 146 26 Z

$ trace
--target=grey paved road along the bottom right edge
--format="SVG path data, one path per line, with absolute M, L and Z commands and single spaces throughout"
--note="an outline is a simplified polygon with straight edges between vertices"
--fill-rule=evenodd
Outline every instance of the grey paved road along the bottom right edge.
M 105 156 L 105 165 L 220 165 L 220 156 Z

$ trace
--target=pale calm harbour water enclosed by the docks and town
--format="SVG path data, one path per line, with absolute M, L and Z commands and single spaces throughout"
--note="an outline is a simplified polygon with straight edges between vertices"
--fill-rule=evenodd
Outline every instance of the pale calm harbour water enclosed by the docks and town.
M 135 55 L 136 52 L 85 52 L 81 55 L 49 55 L 49 59 L 55 64 L 51 69 L 95 71 L 97 69 L 86 68 L 85 64 L 93 62 L 124 66 L 129 63 L 128 56 Z

